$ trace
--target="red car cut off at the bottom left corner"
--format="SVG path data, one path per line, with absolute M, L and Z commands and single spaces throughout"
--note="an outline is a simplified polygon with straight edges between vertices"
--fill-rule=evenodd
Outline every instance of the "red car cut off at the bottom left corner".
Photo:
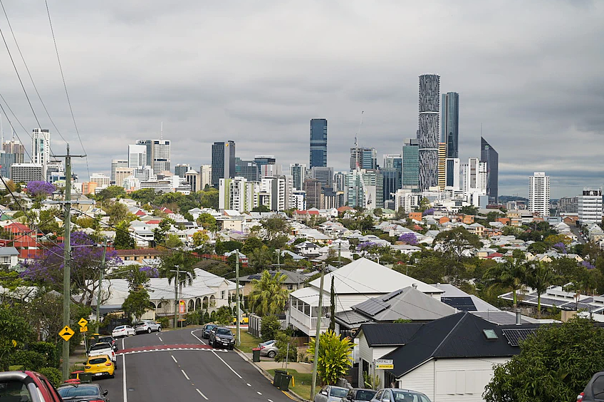
M 61 396 L 41 373 L 4 371 L 0 373 L 0 401 L 56 402 Z

